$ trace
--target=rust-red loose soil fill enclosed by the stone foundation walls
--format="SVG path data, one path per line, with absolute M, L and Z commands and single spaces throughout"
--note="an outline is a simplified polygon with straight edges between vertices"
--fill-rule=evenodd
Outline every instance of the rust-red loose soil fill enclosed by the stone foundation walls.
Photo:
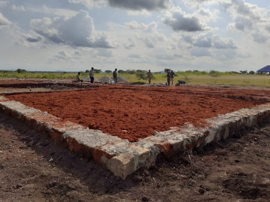
M 203 127 L 206 118 L 261 104 L 206 92 L 194 93 L 196 90 L 110 86 L 7 97 L 131 142 L 153 135 L 154 130 L 166 131 L 186 122 Z

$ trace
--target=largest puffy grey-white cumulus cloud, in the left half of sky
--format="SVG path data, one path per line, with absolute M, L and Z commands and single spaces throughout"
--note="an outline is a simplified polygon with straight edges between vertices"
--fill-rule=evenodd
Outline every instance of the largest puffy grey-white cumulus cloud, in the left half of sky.
M 119 42 L 106 32 L 95 31 L 93 19 L 88 12 L 80 10 L 73 17 L 32 19 L 33 30 L 49 42 L 69 46 L 115 48 Z

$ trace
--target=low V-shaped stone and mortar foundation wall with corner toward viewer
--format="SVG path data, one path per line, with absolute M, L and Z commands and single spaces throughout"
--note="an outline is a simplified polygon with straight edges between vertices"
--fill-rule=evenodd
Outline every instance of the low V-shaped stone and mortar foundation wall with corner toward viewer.
M 125 179 L 140 167 L 156 162 L 158 155 L 170 158 L 186 149 L 204 147 L 210 142 L 233 137 L 245 127 L 270 118 L 270 104 L 240 109 L 206 119 L 209 127 L 195 128 L 186 123 L 182 127 L 171 127 L 168 131 L 154 132 L 153 136 L 131 143 L 118 137 L 102 133 L 60 118 L 47 112 L 28 107 L 20 102 L 0 96 L 0 109 L 38 131 L 47 131 L 57 144 L 65 144 L 70 151 L 92 157 L 114 175 Z

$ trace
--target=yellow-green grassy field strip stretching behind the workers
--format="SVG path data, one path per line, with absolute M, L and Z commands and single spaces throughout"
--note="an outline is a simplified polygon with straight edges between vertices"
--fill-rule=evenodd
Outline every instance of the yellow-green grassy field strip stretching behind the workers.
M 177 80 L 190 81 L 192 84 L 216 84 L 216 85 L 240 85 L 240 86 L 270 86 L 269 75 L 245 75 L 245 74 L 231 74 L 218 72 L 218 75 L 212 75 L 207 72 L 192 73 L 188 72 L 176 72 L 178 75 L 174 78 L 175 83 Z M 88 76 L 88 73 L 81 73 L 80 78 Z M 112 77 L 112 74 L 97 73 L 96 78 L 102 76 Z M 123 76 L 131 82 L 143 81 L 137 78 L 135 74 L 118 74 Z M 185 76 L 184 76 L 185 75 Z M 166 82 L 166 79 L 162 79 L 165 74 L 154 74 L 152 83 Z M 0 77 L 9 78 L 43 78 L 43 79 L 75 79 L 76 73 L 55 73 L 55 72 L 23 72 L 18 73 L 14 71 L 0 71 Z

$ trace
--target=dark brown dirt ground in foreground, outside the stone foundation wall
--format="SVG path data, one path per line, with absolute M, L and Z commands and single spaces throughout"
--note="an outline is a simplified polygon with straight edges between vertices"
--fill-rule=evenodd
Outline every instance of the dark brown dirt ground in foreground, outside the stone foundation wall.
M 159 158 L 122 181 L 0 112 L 0 201 L 269 201 L 269 124 L 242 131 L 240 139 Z

